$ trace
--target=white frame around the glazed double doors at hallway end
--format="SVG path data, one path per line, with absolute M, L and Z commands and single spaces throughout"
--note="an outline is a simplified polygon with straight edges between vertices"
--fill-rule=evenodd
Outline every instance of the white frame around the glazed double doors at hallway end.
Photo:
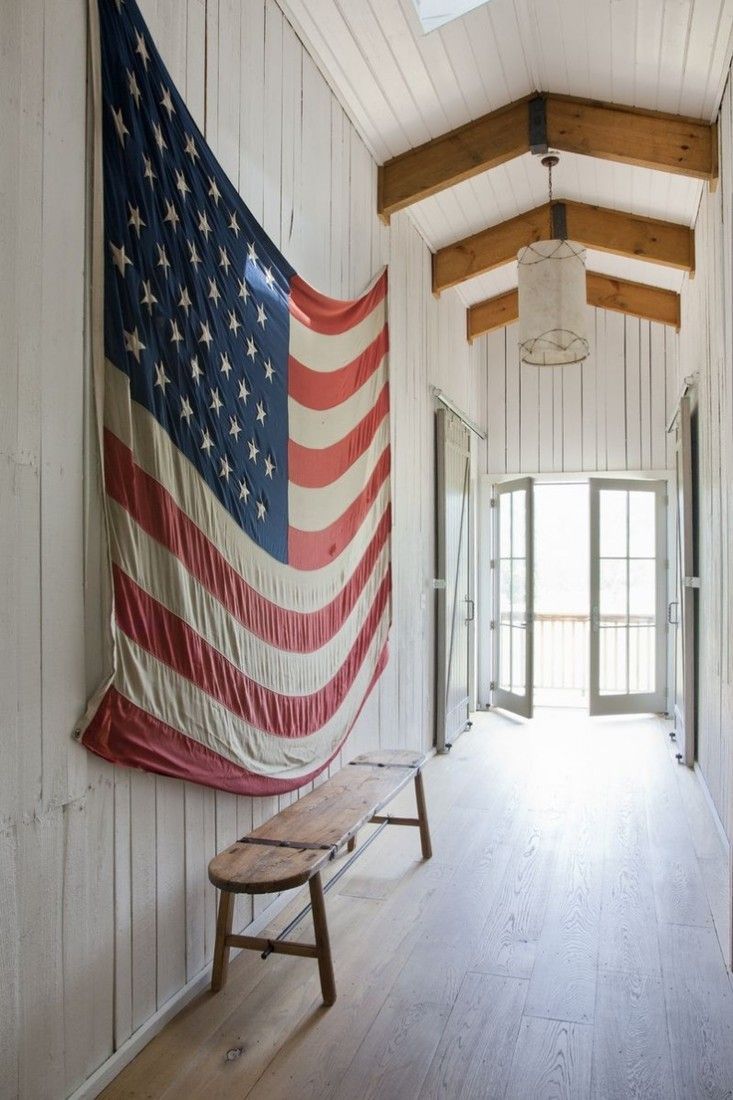
M 491 710 L 491 683 L 493 681 L 493 669 L 494 669 L 494 645 L 491 636 L 490 623 L 493 617 L 494 610 L 494 585 L 493 576 L 491 571 L 491 561 L 493 560 L 493 519 L 492 519 L 492 508 L 491 508 L 491 497 L 493 493 L 493 486 L 500 485 L 502 482 L 516 481 L 518 477 L 532 477 L 535 485 L 543 484 L 559 484 L 561 482 L 580 482 L 590 481 L 591 477 L 617 477 L 623 481 L 666 481 L 667 482 L 667 498 L 672 499 L 675 493 L 675 471 L 674 470 L 569 470 L 569 471 L 543 471 L 538 472 L 536 470 L 518 471 L 514 473 L 506 473 L 506 471 L 501 471 L 497 473 L 486 473 L 481 474 L 478 479 L 477 486 L 477 501 L 478 501 L 478 519 L 477 519 L 477 559 L 475 559 L 475 575 L 477 575 L 477 624 L 475 624 L 475 636 L 477 636 L 477 694 L 478 704 L 477 710 L 489 711 Z M 674 592 L 670 584 L 670 578 L 675 575 L 675 569 L 672 568 L 676 563 L 676 534 L 675 534 L 675 516 L 670 507 L 667 508 L 667 561 L 669 562 L 669 568 L 667 570 L 667 584 L 668 584 L 668 595 L 667 600 L 674 600 Z M 489 552 L 486 551 L 486 548 Z M 590 614 L 590 607 L 589 607 Z M 672 713 L 674 698 L 670 692 L 672 691 L 674 684 L 674 659 L 675 654 L 667 644 L 667 714 Z

